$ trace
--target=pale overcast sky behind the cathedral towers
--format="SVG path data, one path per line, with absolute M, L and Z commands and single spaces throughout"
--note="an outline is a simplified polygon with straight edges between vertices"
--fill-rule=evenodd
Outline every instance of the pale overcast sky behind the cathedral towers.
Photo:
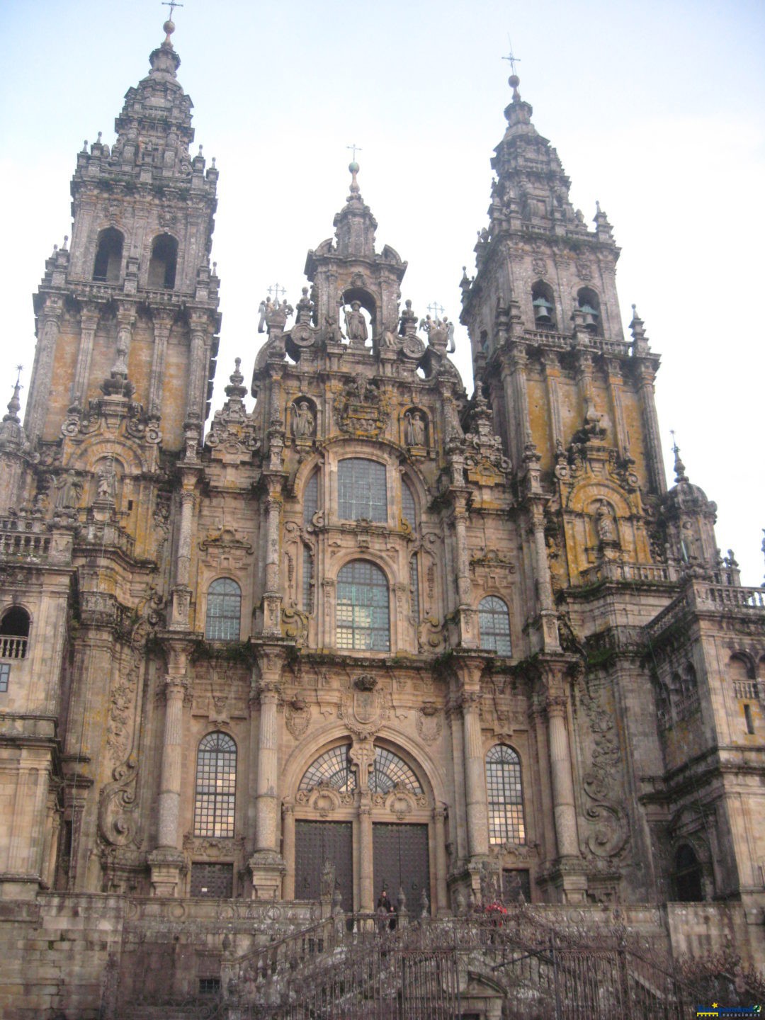
M 114 140 L 125 91 L 148 70 L 167 8 L 155 0 L 5 0 L 0 251 L 6 288 L 0 393 L 34 355 L 31 295 L 70 234 L 69 180 L 83 140 Z M 658 407 L 691 479 L 719 507 L 717 540 L 744 582 L 763 579 L 765 378 L 765 5 L 761 0 L 473 0 L 237 3 L 175 11 L 178 80 L 195 149 L 217 157 L 213 258 L 223 325 L 213 407 L 235 356 L 249 381 L 257 306 L 278 282 L 295 304 L 309 248 L 348 194 L 347 146 L 379 223 L 377 250 L 408 260 L 402 297 L 459 316 L 474 271 L 492 150 L 520 92 L 590 221 L 596 199 L 622 248 L 630 305 L 662 354 Z M 467 337 L 458 366 L 472 392 Z M 5 381 L 3 381 L 5 380 Z M 7 385 L 7 391 L 2 387 Z M 3 400 L 4 403 L 4 400 Z

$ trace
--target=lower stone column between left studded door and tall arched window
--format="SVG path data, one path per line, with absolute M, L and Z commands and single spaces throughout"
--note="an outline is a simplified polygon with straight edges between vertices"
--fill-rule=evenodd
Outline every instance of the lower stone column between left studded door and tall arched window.
M 253 900 L 275 900 L 285 872 L 279 854 L 278 731 L 276 705 L 282 678 L 282 654 L 263 650 L 259 662 L 258 770 L 255 780 L 255 853 L 248 864 L 252 872 Z

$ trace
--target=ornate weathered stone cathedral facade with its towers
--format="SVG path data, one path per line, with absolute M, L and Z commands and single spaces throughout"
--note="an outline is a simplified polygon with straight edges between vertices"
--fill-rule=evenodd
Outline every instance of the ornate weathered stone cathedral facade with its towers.
M 218 173 L 165 30 L 78 154 L 0 424 L 3 1015 L 96 1016 L 168 960 L 193 990 L 223 933 L 382 888 L 761 965 L 765 603 L 678 452 L 667 488 L 606 214 L 511 76 L 472 397 L 352 163 L 302 296 L 261 305 L 254 409 L 237 359 L 210 418 Z

